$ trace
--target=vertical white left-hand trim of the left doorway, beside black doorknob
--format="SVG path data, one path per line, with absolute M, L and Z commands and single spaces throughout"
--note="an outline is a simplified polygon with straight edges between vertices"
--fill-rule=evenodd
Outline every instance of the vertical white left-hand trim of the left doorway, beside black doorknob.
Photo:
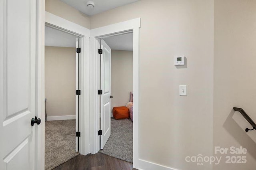
M 44 120 L 44 8 L 45 0 L 36 0 L 36 116 Z M 44 169 L 44 121 L 36 126 L 35 169 Z

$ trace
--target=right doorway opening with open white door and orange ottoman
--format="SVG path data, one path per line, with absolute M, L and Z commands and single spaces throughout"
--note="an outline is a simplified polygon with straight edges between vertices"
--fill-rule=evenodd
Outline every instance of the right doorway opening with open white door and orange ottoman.
M 99 38 L 100 153 L 133 162 L 133 32 Z

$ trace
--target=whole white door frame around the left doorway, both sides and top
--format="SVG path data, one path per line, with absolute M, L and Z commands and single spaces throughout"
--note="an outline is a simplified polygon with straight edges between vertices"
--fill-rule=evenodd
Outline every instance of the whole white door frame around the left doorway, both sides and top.
M 43 2 L 44 3 L 44 0 Z M 44 7 L 42 7 L 44 9 Z M 38 117 L 44 120 L 44 25 L 50 26 L 52 28 L 68 32 L 70 34 L 74 34 L 79 36 L 81 39 L 81 53 L 80 53 L 80 114 L 79 114 L 79 129 L 81 132 L 81 137 L 79 138 L 79 152 L 80 154 L 86 155 L 89 153 L 89 133 L 85 129 L 89 129 L 89 117 L 90 117 L 90 30 L 84 28 L 78 24 L 60 18 L 54 14 L 49 12 L 41 12 L 41 30 L 38 29 L 38 35 L 41 35 L 40 41 L 38 40 L 38 56 L 37 56 L 37 76 L 38 76 L 38 84 L 37 84 L 37 100 L 38 100 Z M 38 23 L 38 25 L 40 25 Z M 75 93 L 75 92 L 74 92 Z M 44 121 L 42 121 L 44 122 Z M 39 126 L 38 126 L 39 127 Z M 40 134 L 38 134 L 37 141 L 38 151 L 36 155 L 36 161 L 40 163 L 37 169 L 41 169 L 44 167 L 44 123 L 40 126 Z M 36 163 L 37 163 L 36 162 Z

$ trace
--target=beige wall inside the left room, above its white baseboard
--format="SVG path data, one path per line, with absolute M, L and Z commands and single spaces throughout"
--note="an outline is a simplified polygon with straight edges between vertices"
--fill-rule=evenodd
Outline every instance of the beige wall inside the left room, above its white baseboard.
M 76 49 L 45 46 L 47 116 L 76 115 Z

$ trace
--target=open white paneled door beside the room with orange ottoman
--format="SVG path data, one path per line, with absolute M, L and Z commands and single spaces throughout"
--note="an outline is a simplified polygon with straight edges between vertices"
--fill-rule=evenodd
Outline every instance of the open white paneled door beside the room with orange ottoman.
M 103 149 L 108 138 L 110 136 L 111 130 L 111 113 L 110 113 L 110 95 L 111 95 L 111 49 L 110 47 L 101 40 L 101 89 L 102 97 L 100 100 L 100 129 L 102 130 L 102 135 L 100 136 L 100 149 Z

